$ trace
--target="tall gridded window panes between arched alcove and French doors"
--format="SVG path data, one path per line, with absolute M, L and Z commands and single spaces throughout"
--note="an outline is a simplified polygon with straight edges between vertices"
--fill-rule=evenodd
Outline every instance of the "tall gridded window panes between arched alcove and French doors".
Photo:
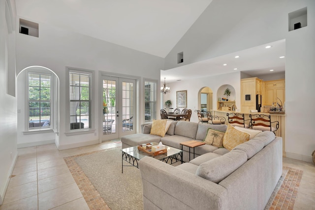
M 92 72 L 69 69 L 69 129 L 92 128 Z

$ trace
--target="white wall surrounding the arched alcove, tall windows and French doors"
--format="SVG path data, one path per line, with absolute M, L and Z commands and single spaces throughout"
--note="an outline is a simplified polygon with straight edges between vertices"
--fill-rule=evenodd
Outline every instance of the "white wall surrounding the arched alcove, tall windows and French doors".
M 20 18 L 20 17 L 18 17 Z M 22 19 L 27 20 L 24 17 Z M 144 110 L 143 80 L 142 78 L 156 79 L 159 81 L 160 69 L 164 62 L 162 58 L 135 51 L 126 47 L 101 41 L 85 35 L 73 33 L 71 31 L 56 28 L 51 25 L 41 23 L 40 20 L 29 20 L 39 24 L 39 37 L 17 33 L 17 72 L 22 69 L 39 65 L 51 69 L 60 79 L 60 130 L 55 140 L 59 148 L 69 148 L 95 144 L 99 140 L 98 131 L 98 71 L 127 74 L 140 77 L 140 110 Z M 95 133 L 66 136 L 65 106 L 66 95 L 66 66 L 89 69 L 95 71 L 94 86 L 94 124 Z M 22 112 L 21 115 L 25 115 Z M 144 115 L 140 113 L 140 120 L 144 120 Z M 19 136 L 21 136 L 19 128 Z M 19 138 L 18 143 L 26 143 L 26 139 L 40 141 L 38 135 L 31 135 L 27 138 Z M 41 139 L 43 140 L 43 139 Z

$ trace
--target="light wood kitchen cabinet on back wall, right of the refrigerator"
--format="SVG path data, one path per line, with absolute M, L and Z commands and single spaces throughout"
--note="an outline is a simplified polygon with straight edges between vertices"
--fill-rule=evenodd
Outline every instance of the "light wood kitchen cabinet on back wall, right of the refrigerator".
M 284 103 L 285 101 L 285 80 L 271 80 L 264 82 L 264 94 L 263 94 L 263 105 L 272 106 L 279 102 Z M 279 99 L 280 100 L 279 100 Z M 281 102 L 280 102 L 281 101 Z

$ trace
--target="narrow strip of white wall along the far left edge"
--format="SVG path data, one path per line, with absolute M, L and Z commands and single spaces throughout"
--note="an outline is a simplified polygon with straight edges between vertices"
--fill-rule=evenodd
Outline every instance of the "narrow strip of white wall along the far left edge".
M 6 7 L 13 16 L 7 13 L 8 10 L 5 11 Z M 17 102 L 16 98 L 12 96 L 14 93 L 9 91 L 15 90 L 12 85 L 10 89 L 9 85 L 13 84 L 14 86 L 15 84 L 15 78 L 9 76 L 15 72 L 15 32 L 9 33 L 8 28 L 11 27 L 12 30 L 12 25 L 7 26 L 8 17 L 6 18 L 6 14 L 12 19 L 14 30 L 14 1 L 0 0 L 0 205 L 3 202 L 9 177 L 17 158 Z

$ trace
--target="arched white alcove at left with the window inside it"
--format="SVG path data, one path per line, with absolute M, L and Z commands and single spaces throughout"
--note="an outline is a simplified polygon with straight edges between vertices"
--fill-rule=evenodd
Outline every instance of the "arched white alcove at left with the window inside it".
M 29 66 L 17 75 L 18 148 L 55 143 L 59 84 L 57 74 L 44 66 Z

